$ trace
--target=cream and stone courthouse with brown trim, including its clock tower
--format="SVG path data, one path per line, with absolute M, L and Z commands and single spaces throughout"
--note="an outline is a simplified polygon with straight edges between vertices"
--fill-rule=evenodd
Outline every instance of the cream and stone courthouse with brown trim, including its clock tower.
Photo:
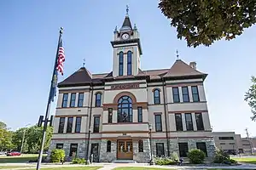
M 58 84 L 49 153 L 61 148 L 69 159 L 93 154 L 93 161 L 148 162 L 151 151 L 186 157 L 198 148 L 212 157 L 207 74 L 181 59 L 169 69 L 143 70 L 142 42 L 128 15 L 111 44 L 111 72 L 91 74 L 82 67 Z

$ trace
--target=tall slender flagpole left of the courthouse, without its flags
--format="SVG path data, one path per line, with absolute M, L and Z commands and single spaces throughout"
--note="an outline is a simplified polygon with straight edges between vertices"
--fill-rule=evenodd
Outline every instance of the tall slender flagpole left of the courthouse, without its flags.
M 61 35 L 63 32 L 63 28 L 61 27 L 60 30 L 60 35 L 59 35 L 59 41 L 58 41 L 58 48 L 57 48 L 57 53 L 56 53 L 56 57 L 55 57 L 55 67 L 54 67 L 54 71 L 52 74 L 52 79 L 51 79 L 51 83 L 50 83 L 50 89 L 49 89 L 49 99 L 48 99 L 48 104 L 47 104 L 47 108 L 45 111 L 45 116 L 44 116 L 44 129 L 43 129 L 43 134 L 42 134 L 42 142 L 41 142 L 41 147 L 40 147 L 40 152 L 39 152 L 39 156 L 38 156 L 38 164 L 37 164 L 37 170 L 40 169 L 41 166 L 41 162 L 42 162 L 42 157 L 43 157 L 43 152 L 44 152 L 44 140 L 45 140 L 45 134 L 46 134 L 46 130 L 47 130 L 47 124 L 49 122 L 49 111 L 50 111 L 50 104 L 51 104 L 51 99 L 52 97 L 52 93 L 53 93 L 53 81 L 55 79 L 55 73 L 56 73 L 56 67 L 57 67 L 57 59 L 58 59 L 58 53 L 59 53 L 59 47 L 60 47 L 60 42 L 61 42 Z

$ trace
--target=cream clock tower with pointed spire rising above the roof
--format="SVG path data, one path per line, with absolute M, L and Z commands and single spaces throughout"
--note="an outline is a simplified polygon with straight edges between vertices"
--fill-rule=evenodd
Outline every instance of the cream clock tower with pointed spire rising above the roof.
M 121 28 L 113 31 L 113 77 L 136 76 L 143 54 L 137 26 L 131 26 L 129 8 Z

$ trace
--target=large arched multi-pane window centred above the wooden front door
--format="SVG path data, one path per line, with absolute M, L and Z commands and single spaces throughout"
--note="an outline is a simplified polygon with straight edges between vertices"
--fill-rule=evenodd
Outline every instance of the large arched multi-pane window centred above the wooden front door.
M 129 96 L 119 99 L 118 122 L 132 122 L 132 100 Z

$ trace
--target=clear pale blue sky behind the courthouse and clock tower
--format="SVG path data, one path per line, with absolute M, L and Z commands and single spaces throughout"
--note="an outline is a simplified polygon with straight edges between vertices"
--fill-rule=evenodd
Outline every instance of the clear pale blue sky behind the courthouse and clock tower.
M 140 31 L 142 69 L 170 68 L 178 49 L 180 59 L 196 61 L 198 70 L 209 74 L 205 88 L 213 130 L 244 136 L 248 127 L 250 135 L 256 136 L 256 122 L 251 121 L 250 108 L 243 101 L 250 77 L 256 75 L 256 26 L 230 42 L 188 48 L 177 40 L 157 2 L 0 1 L 0 121 L 16 129 L 44 115 L 60 26 L 65 29 L 64 77 L 77 71 L 83 59 L 92 73 L 111 71 L 110 41 L 129 4 L 131 22 Z

